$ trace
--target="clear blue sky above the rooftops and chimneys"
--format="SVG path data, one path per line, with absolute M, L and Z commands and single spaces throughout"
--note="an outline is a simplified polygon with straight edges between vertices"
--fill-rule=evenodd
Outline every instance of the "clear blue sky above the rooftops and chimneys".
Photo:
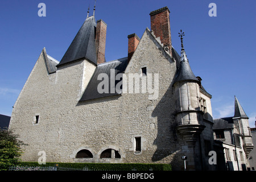
M 38 4 L 46 4 L 46 17 Z M 209 3 L 217 16 L 210 17 Z M 0 114 L 12 107 L 42 49 L 61 60 L 94 0 L 9 0 L 0 3 Z M 150 28 L 150 11 L 168 6 L 172 45 L 180 52 L 178 32 L 196 76 L 212 94 L 213 118 L 234 114 L 236 95 L 254 126 L 256 117 L 255 0 L 146 1 L 97 0 L 96 19 L 108 24 L 106 60 L 127 56 L 127 35 L 142 36 Z

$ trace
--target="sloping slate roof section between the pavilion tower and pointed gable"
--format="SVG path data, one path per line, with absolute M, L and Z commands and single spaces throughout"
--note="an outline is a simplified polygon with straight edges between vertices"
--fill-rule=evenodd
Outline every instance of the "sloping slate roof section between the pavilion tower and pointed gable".
M 98 80 L 98 75 L 100 75 L 101 73 L 105 73 L 106 75 L 108 75 L 108 78 L 109 78 L 108 85 L 110 85 L 111 71 L 112 72 L 114 71 L 113 73 L 114 73 L 114 79 L 115 79 L 115 76 L 118 73 L 125 72 L 125 69 L 126 69 L 127 63 L 128 63 L 127 60 L 128 60 L 127 57 L 124 57 L 122 59 L 117 59 L 117 60 L 113 60 L 113 61 L 108 61 L 106 63 L 98 64 L 80 101 L 93 100 L 96 98 L 109 97 L 109 96 L 115 96 L 115 95 L 121 94 L 121 92 L 117 93 L 117 90 L 115 90 L 115 89 L 114 89 L 114 92 L 111 93 L 110 86 L 109 86 L 108 93 L 99 93 L 97 88 L 98 88 L 98 85 L 100 84 L 100 82 L 102 82 L 102 80 L 104 80 L 104 78 L 102 78 L 102 80 Z M 120 82 L 120 81 L 119 80 L 115 81 L 115 84 L 113 86 L 115 87 L 118 82 Z

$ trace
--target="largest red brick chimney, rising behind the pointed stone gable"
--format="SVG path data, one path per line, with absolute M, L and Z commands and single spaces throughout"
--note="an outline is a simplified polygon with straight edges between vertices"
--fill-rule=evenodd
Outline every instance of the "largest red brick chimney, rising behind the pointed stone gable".
M 160 37 L 163 46 L 168 46 L 172 55 L 170 10 L 168 7 L 150 12 L 151 31 L 154 31 L 156 38 Z

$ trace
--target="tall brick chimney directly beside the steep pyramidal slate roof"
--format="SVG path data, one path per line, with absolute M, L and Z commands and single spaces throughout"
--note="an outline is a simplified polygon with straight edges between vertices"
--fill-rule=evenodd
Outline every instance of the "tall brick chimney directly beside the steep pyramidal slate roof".
M 107 24 L 102 19 L 97 20 L 96 56 L 98 64 L 105 62 L 106 27 Z

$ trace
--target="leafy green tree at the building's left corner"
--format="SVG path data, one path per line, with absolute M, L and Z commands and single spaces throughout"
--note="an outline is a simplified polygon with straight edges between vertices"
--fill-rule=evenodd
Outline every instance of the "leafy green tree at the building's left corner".
M 12 130 L 0 128 L 0 171 L 8 170 L 9 166 L 16 166 L 21 162 L 22 150 L 20 146 L 25 145 L 18 139 L 18 135 Z

